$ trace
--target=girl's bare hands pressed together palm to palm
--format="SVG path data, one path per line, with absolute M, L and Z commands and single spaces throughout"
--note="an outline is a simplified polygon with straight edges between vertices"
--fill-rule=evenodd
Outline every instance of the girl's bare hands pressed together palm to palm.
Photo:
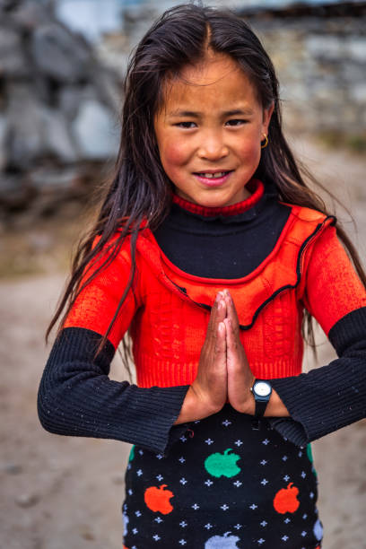
M 214 301 L 196 379 L 187 391 L 176 423 L 215 414 L 227 402 L 240 413 L 254 414 L 250 392 L 254 379 L 240 342 L 234 302 L 230 292 L 223 290 Z

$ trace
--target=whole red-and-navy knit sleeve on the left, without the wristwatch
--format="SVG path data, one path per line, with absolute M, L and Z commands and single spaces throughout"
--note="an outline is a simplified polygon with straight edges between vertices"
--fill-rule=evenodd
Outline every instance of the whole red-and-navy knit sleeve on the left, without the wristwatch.
M 96 356 L 129 270 L 128 257 L 118 254 L 74 302 L 40 380 L 39 421 L 57 434 L 123 440 L 164 452 L 187 430 L 173 423 L 188 386 L 138 388 L 109 379 L 110 362 L 140 305 L 132 289 Z

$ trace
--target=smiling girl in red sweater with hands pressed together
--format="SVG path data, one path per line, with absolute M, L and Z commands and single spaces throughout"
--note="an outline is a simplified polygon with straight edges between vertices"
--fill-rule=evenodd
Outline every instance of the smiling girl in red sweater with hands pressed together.
M 129 65 L 115 176 L 39 387 L 48 431 L 135 444 L 128 549 L 321 546 L 309 442 L 365 414 L 364 285 L 252 30 L 164 13 Z M 310 315 L 339 358 L 301 374 Z M 108 378 L 126 330 L 137 386 Z

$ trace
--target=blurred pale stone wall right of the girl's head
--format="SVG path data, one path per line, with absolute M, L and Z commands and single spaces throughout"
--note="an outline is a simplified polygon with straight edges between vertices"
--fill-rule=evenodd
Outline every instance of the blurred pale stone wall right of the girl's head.
M 287 126 L 366 144 L 366 3 L 243 16 L 274 61 Z

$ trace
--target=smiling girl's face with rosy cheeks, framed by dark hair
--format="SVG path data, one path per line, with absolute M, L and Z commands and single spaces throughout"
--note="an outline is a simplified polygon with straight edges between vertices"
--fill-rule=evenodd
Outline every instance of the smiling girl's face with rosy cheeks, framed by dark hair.
M 214 53 L 166 83 L 164 95 L 154 130 L 177 194 L 212 207 L 248 197 L 273 106 L 263 109 L 239 65 Z

